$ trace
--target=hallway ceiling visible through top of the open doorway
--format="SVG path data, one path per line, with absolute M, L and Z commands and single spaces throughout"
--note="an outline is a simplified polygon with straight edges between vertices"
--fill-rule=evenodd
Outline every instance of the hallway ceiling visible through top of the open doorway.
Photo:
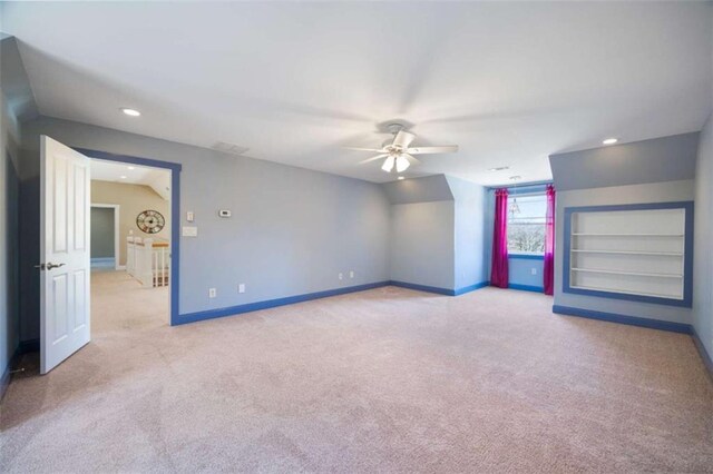
M 92 180 L 144 185 L 154 189 L 164 199 L 170 198 L 170 172 L 165 169 L 100 159 L 91 159 L 89 167 Z

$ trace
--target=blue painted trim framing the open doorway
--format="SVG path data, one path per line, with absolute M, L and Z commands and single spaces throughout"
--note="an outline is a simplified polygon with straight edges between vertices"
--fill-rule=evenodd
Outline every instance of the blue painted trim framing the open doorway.
M 170 325 L 178 324 L 180 314 L 178 310 L 178 289 L 180 288 L 180 164 L 128 155 L 115 155 L 88 148 L 75 149 L 89 158 L 170 170 Z

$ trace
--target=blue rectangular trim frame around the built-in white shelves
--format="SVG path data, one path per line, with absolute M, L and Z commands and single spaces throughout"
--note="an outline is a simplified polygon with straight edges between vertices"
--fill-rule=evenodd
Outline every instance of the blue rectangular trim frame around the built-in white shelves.
M 629 302 L 654 303 L 667 306 L 681 306 L 690 308 L 693 304 L 693 201 L 678 203 L 645 203 L 624 204 L 614 206 L 584 206 L 565 208 L 565 250 L 563 255 L 563 292 L 576 295 L 598 296 L 613 299 L 626 299 Z M 685 230 L 684 248 L 685 260 L 683 263 L 683 299 L 672 299 L 656 296 L 625 295 L 613 292 L 599 292 L 595 289 L 573 288 L 569 285 L 569 261 L 572 257 L 572 215 L 574 213 L 597 213 L 617 210 L 649 210 L 649 209 L 684 209 Z

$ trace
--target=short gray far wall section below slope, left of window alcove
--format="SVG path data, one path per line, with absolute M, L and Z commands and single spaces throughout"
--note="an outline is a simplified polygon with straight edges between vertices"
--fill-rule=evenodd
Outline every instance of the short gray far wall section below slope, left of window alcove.
M 452 200 L 391 206 L 391 279 L 455 288 Z

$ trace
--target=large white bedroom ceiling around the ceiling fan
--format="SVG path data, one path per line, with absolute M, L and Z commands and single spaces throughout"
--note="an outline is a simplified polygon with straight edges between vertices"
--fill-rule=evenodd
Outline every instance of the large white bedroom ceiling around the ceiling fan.
M 341 147 L 381 145 L 395 118 L 417 146 L 461 147 L 407 175 L 496 185 L 548 179 L 549 154 L 605 137 L 700 130 L 713 101 L 711 2 L 9 2 L 2 17 L 43 115 L 372 181 L 393 176 Z

